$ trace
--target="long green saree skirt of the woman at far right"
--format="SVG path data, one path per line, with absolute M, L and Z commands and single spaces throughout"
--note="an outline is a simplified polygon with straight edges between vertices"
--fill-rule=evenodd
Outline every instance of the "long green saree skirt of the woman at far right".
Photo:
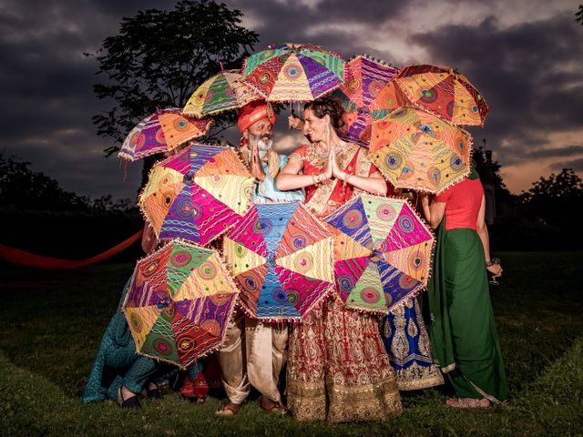
M 427 299 L 434 360 L 461 398 L 506 399 L 506 372 L 488 290 L 486 257 L 476 231 L 436 230 Z

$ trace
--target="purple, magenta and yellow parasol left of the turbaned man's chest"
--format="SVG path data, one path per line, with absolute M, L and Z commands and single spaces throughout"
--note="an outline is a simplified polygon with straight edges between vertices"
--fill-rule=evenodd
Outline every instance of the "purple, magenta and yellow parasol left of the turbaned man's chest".
M 232 148 L 195 144 L 152 168 L 138 204 L 160 239 L 206 245 L 245 214 L 253 183 Z

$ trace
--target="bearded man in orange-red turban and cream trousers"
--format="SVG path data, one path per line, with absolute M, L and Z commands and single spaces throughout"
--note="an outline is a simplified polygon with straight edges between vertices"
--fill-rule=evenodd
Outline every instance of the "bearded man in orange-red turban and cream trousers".
M 258 181 L 253 201 L 303 201 L 302 190 L 283 192 L 275 188 L 275 178 L 287 162 L 286 156 L 278 155 L 272 148 L 271 128 L 275 122 L 271 106 L 263 101 L 251 102 L 239 112 L 240 151 Z M 246 317 L 241 311 L 233 315 L 218 353 L 229 403 L 217 414 L 237 414 L 251 385 L 261 392 L 260 406 L 265 412 L 285 412 L 279 383 L 287 361 L 287 340 L 285 323 L 265 323 Z

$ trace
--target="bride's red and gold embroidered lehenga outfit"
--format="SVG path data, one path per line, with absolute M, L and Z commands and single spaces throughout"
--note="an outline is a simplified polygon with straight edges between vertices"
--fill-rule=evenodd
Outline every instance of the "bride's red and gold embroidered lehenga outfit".
M 312 145 L 296 149 L 303 174 L 322 172 L 324 160 Z M 378 173 L 366 150 L 347 144 L 338 166 L 351 175 Z M 318 217 L 339 208 L 353 186 L 331 179 L 306 187 L 307 207 Z M 395 372 L 378 329 L 377 316 L 347 310 L 331 298 L 292 329 L 288 350 L 288 407 L 299 421 L 379 421 L 402 412 Z

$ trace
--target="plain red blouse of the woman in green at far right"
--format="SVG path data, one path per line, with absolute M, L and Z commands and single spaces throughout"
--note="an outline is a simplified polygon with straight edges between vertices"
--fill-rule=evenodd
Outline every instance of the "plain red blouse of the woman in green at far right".
M 479 178 L 465 178 L 434 198 L 445 203 L 445 230 L 469 228 L 476 230 L 477 215 L 482 205 L 484 188 Z

